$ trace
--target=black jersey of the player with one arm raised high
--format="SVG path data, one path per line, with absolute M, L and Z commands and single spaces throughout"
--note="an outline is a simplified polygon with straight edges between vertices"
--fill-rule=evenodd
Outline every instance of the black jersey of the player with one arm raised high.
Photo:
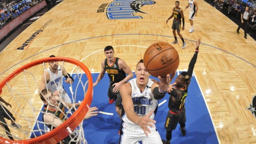
M 172 101 L 172 97 L 170 95 L 169 97 L 169 102 L 168 102 L 168 107 L 170 109 L 170 111 L 172 112 L 179 112 L 181 110 L 183 110 L 183 108 L 185 107 L 185 100 L 187 97 L 187 85 L 185 84 L 183 88 L 177 89 L 175 87 L 174 90 L 176 91 L 181 91 L 181 99 L 177 102 Z

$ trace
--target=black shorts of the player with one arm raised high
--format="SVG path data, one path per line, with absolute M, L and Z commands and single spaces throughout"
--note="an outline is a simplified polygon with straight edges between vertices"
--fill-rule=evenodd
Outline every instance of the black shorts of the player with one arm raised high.
M 185 108 L 180 113 L 170 113 L 168 111 L 166 120 L 165 120 L 165 129 L 168 131 L 175 130 L 178 122 L 185 123 L 186 122 L 186 110 Z

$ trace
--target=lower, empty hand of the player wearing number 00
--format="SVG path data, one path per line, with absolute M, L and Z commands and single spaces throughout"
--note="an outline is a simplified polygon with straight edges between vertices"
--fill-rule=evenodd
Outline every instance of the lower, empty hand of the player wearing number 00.
M 154 110 L 151 110 L 147 115 L 140 117 L 138 121 L 138 125 L 143 129 L 144 133 L 146 134 L 146 137 L 148 137 L 148 133 L 151 133 L 147 126 L 154 127 L 154 124 L 152 123 L 156 123 L 154 119 L 149 118 L 151 114 L 153 114 L 153 112 Z

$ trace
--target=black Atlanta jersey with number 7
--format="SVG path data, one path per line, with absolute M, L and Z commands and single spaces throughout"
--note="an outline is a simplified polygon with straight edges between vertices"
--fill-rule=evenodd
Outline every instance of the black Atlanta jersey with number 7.
M 110 78 L 110 85 L 112 86 L 114 83 L 122 81 L 126 78 L 126 73 L 118 66 L 118 59 L 114 58 L 114 63 L 112 65 L 108 64 L 108 60 L 105 59 L 105 69 L 108 73 L 108 77 Z

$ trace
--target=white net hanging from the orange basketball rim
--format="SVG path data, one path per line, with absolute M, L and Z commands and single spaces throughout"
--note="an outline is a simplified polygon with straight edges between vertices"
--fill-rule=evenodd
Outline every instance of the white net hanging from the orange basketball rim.
M 55 122 L 55 120 L 50 123 L 44 122 L 43 115 L 49 115 L 49 113 L 55 117 L 58 115 L 59 117 L 62 117 L 57 117 L 58 121 L 60 120 L 64 122 L 62 124 L 65 124 L 65 121 L 69 119 L 78 108 L 80 108 L 75 107 L 77 103 L 86 103 L 83 105 L 84 107 L 81 108 L 89 108 L 91 101 L 84 101 L 88 89 L 87 82 L 89 79 L 85 71 L 81 69 L 79 65 L 75 65 L 73 63 L 64 61 L 59 63 L 62 65 L 62 68 L 58 69 L 58 71 L 61 71 L 59 75 L 60 78 L 55 78 L 54 74 L 50 74 L 51 72 L 48 69 L 49 65 L 47 62 L 34 65 L 26 70 L 23 69 L 22 73 L 15 74 L 13 78 L 5 83 L 5 86 L 2 87 L 2 94 L 0 96 L 7 103 L 10 103 L 12 107 L 7 106 L 8 104 L 6 105 L 4 102 L 1 102 L 0 124 L 3 130 L 1 130 L 0 136 L 2 138 L 26 140 L 40 137 L 41 135 L 49 133 L 53 127 L 58 126 L 58 124 L 55 125 L 57 122 Z M 68 73 L 72 73 L 71 76 L 74 79 L 73 84 L 68 84 L 65 82 L 66 78 L 64 78 L 62 74 L 64 68 Z M 72 68 L 73 72 L 69 71 Z M 47 77 L 47 72 L 50 74 L 50 80 L 53 80 L 52 85 L 59 87 L 57 92 L 59 94 L 60 103 L 63 103 L 63 105 L 66 107 L 66 99 L 63 98 L 63 95 L 67 95 L 70 98 L 71 102 L 70 104 L 68 103 L 70 106 L 69 108 L 62 109 L 60 108 L 60 104 L 52 105 L 48 99 L 46 99 L 45 102 L 46 104 L 48 103 L 48 105 L 43 104 L 43 101 L 39 96 L 41 93 L 39 92 L 39 87 L 42 82 L 49 85 L 49 82 L 47 83 L 47 79 L 44 79 L 44 81 L 42 80 L 41 82 L 42 75 Z M 68 78 L 70 77 L 68 76 Z M 46 86 L 46 89 L 50 90 L 51 88 Z M 89 96 L 91 96 L 91 94 Z M 58 99 L 58 96 L 55 97 Z M 74 128 L 67 127 L 60 130 L 60 133 L 69 133 L 68 137 L 65 138 L 65 142 L 63 141 L 64 143 L 87 143 L 84 137 L 82 119 L 77 118 L 74 120 L 74 122 L 72 122 L 72 124 L 76 123 L 78 126 L 76 125 Z

